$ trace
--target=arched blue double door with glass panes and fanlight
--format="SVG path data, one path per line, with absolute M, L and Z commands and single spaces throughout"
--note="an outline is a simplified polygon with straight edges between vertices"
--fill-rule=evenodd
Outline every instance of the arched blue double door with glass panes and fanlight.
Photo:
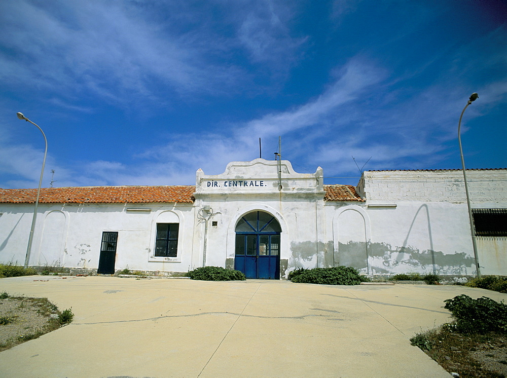
M 234 269 L 246 278 L 280 279 L 280 223 L 264 211 L 252 211 L 236 225 Z

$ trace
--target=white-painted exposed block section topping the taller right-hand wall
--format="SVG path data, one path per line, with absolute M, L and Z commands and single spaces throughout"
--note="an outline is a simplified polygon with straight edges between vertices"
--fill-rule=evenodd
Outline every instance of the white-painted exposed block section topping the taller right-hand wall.
M 466 178 L 470 202 L 507 203 L 507 169 L 467 170 Z M 466 202 L 461 170 L 367 171 L 357 190 L 369 203 Z

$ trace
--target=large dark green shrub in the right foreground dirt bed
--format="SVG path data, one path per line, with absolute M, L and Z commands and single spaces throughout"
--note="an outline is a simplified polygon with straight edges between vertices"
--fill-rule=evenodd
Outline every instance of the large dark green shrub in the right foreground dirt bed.
M 444 308 L 452 313 L 460 332 L 507 334 L 507 305 L 503 301 L 498 303 L 485 296 L 472 299 L 461 294 L 444 302 Z

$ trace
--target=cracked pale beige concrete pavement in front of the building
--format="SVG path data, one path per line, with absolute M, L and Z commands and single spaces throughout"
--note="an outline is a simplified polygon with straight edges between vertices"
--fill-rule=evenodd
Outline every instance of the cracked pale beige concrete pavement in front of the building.
M 48 281 L 34 281 L 48 279 Z M 462 286 L 17 277 L 74 322 L 0 353 L 1 376 L 449 376 L 409 338 Z

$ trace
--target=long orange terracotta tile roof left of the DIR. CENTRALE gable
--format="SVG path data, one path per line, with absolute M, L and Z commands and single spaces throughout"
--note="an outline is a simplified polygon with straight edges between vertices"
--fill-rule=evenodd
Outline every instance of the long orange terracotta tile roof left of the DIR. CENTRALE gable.
M 195 186 L 77 186 L 41 188 L 39 203 L 194 202 Z M 37 189 L 2 189 L 0 203 L 34 203 Z

